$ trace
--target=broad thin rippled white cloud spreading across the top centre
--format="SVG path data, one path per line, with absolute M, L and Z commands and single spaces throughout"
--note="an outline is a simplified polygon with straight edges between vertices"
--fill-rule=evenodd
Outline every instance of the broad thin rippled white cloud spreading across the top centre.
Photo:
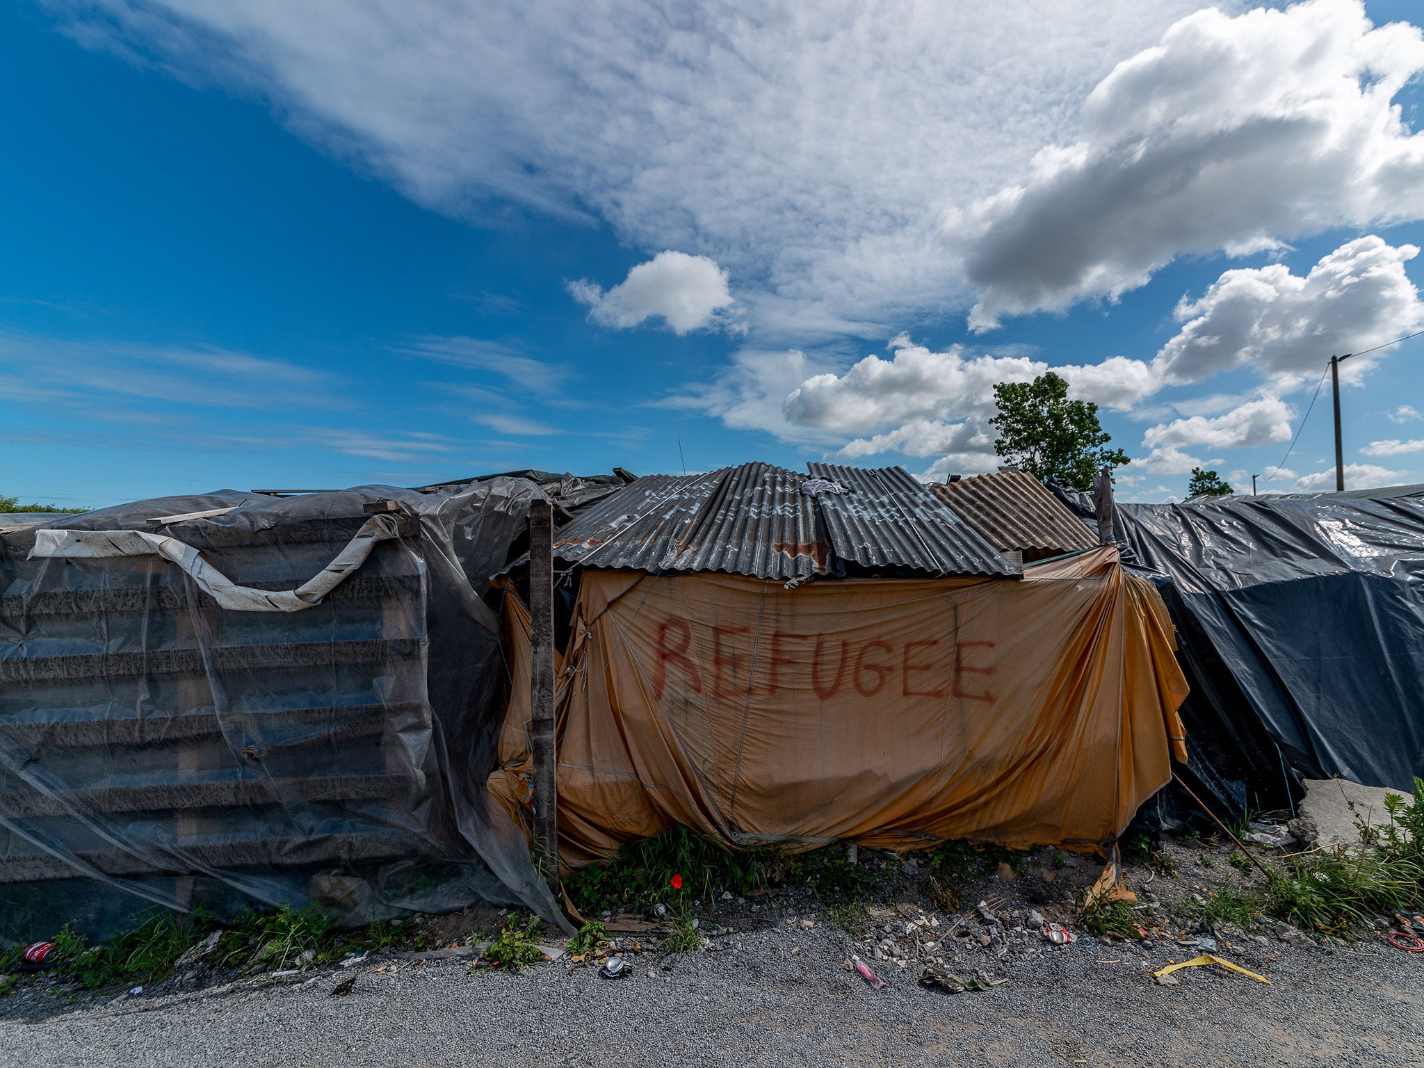
M 1200 0 L 56 0 L 70 31 L 286 125 L 419 204 L 514 201 L 731 269 L 762 333 L 967 306 L 937 221 L 1072 138 Z M 1232 0 L 1235 6 L 1236 0 Z M 742 292 L 745 290 L 745 292 Z M 775 335 L 775 336 L 773 336 Z

